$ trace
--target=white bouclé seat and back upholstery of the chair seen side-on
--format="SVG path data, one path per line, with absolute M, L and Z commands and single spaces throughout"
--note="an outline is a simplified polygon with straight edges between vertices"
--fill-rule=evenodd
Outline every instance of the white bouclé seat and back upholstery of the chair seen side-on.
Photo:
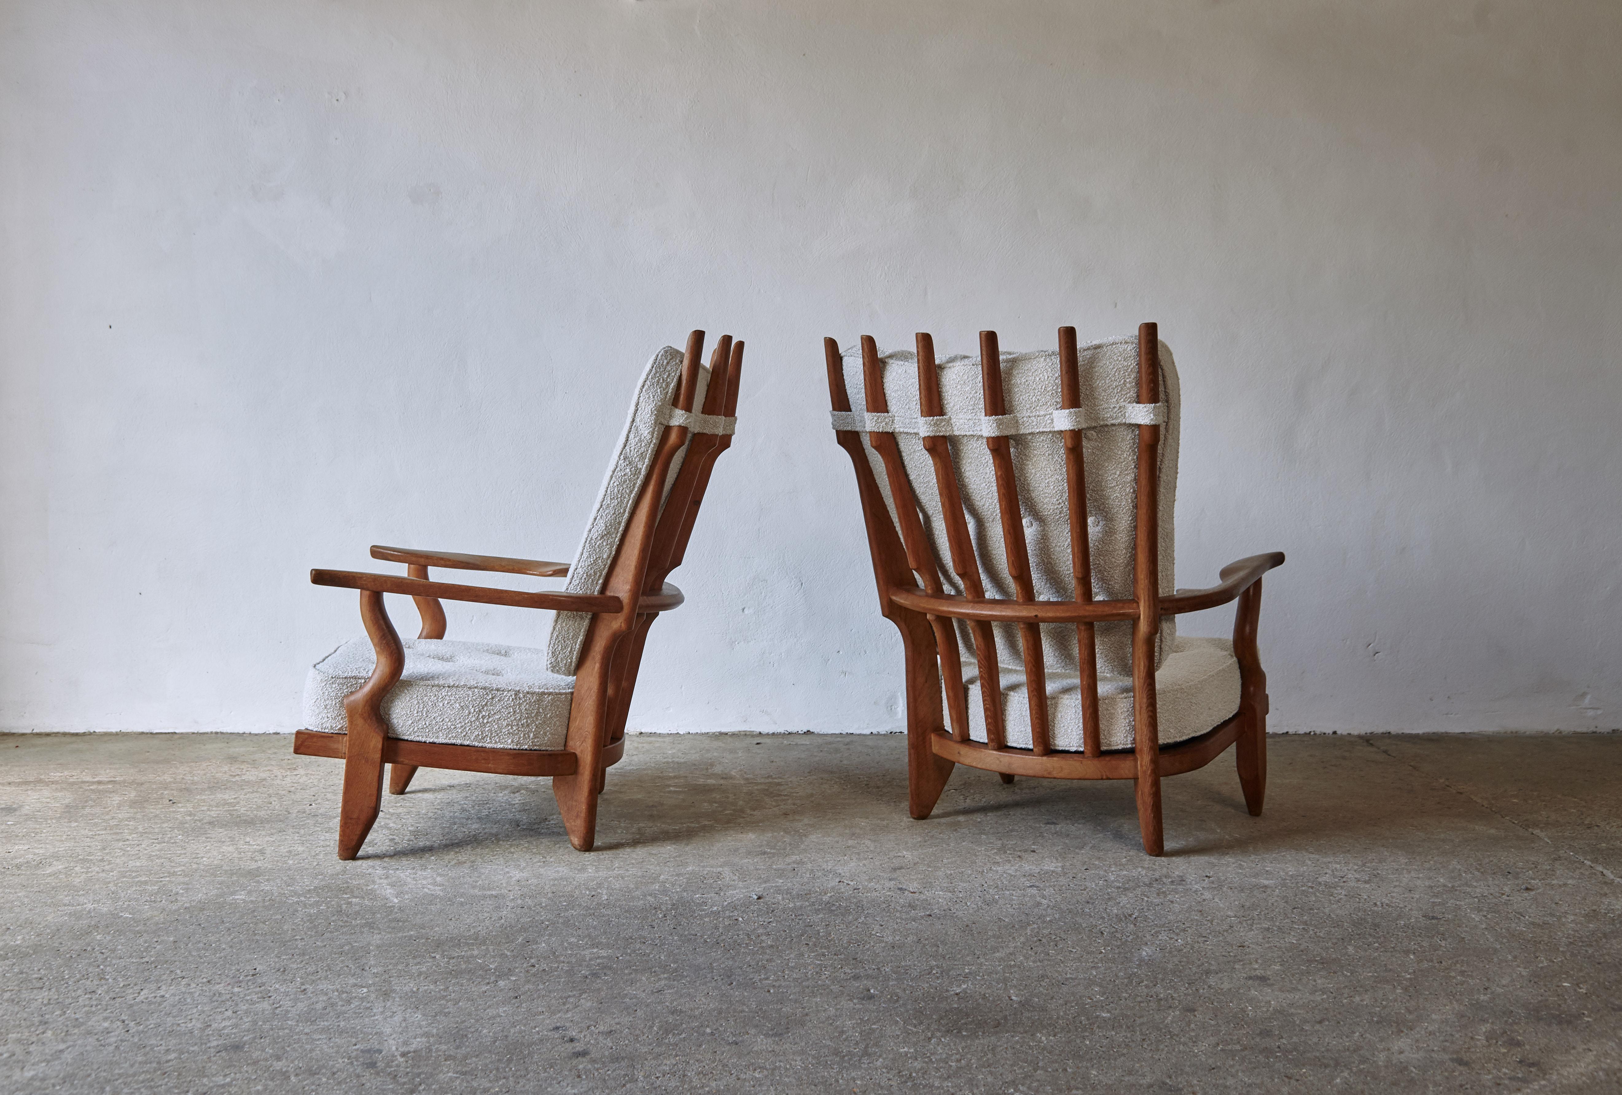
M 631 414 L 569 566 L 568 592 L 602 592 L 667 425 L 688 428 L 689 441 L 693 433 L 733 432 L 733 419 L 697 412 L 709 388 L 707 368 L 699 367 L 693 412 L 673 407 L 680 380 L 681 350 L 668 346 L 642 370 Z M 688 444 L 683 444 L 672 461 L 667 495 L 686 453 Z M 389 735 L 407 741 L 561 749 L 574 698 L 574 670 L 589 625 L 587 613 L 560 612 L 545 651 L 404 639 L 406 670 L 383 701 Z M 303 725 L 345 733 L 344 698 L 367 681 L 373 665 L 375 652 L 367 638 L 345 642 L 316 662 L 305 685 Z

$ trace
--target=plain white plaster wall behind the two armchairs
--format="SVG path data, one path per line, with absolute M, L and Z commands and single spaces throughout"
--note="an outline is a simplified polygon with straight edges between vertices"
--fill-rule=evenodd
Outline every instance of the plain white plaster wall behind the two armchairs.
M 310 566 L 566 556 L 702 326 L 743 427 L 633 725 L 894 728 L 821 337 L 1158 320 L 1179 581 L 1289 555 L 1277 728 L 1617 727 L 1619 54 L 1612 0 L 10 0 L 0 725 L 295 727 L 358 631 Z

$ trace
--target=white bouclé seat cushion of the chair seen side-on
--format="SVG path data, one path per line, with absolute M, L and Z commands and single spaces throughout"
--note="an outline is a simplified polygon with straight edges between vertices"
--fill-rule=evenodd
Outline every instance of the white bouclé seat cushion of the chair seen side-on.
M 407 741 L 561 749 L 574 678 L 547 670 L 532 647 L 402 639 L 406 672 L 383 699 L 391 736 Z M 376 654 L 365 636 L 310 668 L 305 727 L 345 733 L 344 698 L 367 683 Z

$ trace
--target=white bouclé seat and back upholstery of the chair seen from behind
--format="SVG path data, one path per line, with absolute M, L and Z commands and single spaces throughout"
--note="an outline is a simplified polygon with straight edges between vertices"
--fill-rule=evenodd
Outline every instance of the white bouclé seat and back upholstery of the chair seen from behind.
M 1092 552 L 1093 597 L 1132 597 L 1134 537 L 1137 530 L 1137 428 L 1134 423 L 1163 423 L 1160 446 L 1160 592 L 1174 592 L 1178 496 L 1178 443 L 1181 391 L 1169 347 L 1160 346 L 1161 404 L 1137 404 L 1137 339 L 1113 339 L 1079 349 L 1082 407 L 1061 410 L 1059 355 L 1054 350 L 1002 354 L 1002 391 L 1007 414 L 985 414 L 980 359 L 952 355 L 936 359 L 944 415 L 923 417 L 918 402 L 918 359 L 912 352 L 884 354 L 882 378 L 887 410 L 865 409 L 861 350 L 843 354 L 845 389 L 850 412 L 835 412 L 837 430 L 881 430 L 894 433 L 907 477 L 923 509 L 925 532 L 942 586 L 962 594 L 952 571 L 936 487 L 934 466 L 923 448 L 925 436 L 947 436 L 957 466 L 959 488 L 975 540 L 981 581 L 988 597 L 1012 599 L 1015 589 L 1007 569 L 1002 521 L 998 509 L 996 475 L 988 436 L 1009 436 L 1014 475 L 1030 553 L 1032 581 L 1041 600 L 1071 600 L 1069 495 L 1064 470 L 1064 436 L 1059 428 L 1083 428 L 1087 457 L 1088 543 Z M 858 435 L 873 467 L 884 501 L 895 521 L 889 475 L 868 433 Z M 1014 625 L 996 625 L 998 662 L 1004 686 L 1004 733 L 1009 745 L 1030 748 L 1030 711 L 1023 688 L 1020 633 Z M 985 714 L 973 665 L 968 626 L 957 623 L 959 644 L 968 688 L 970 733 L 985 741 Z M 1080 665 L 1075 628 L 1045 625 L 1043 654 L 1048 667 L 1053 748 L 1080 749 Z M 1156 693 L 1160 740 L 1163 743 L 1205 733 L 1239 706 L 1239 668 L 1228 644 L 1210 639 L 1178 641 L 1176 616 L 1165 616 L 1156 647 Z M 1100 709 L 1105 748 L 1132 746 L 1132 625 L 1096 625 Z

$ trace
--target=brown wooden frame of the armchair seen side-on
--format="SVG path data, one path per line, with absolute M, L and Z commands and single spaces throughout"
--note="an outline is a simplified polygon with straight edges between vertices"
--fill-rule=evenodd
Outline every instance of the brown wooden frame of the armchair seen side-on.
M 688 336 L 676 389 L 678 410 L 693 410 L 702 352 L 704 333 L 694 331 Z M 736 414 L 741 370 L 743 342 L 723 336 L 710 359 L 710 383 L 702 414 L 727 417 Z M 732 436 L 694 435 L 670 495 L 665 496 L 672 461 L 686 441 L 688 427 L 667 425 L 660 435 L 647 479 L 603 579 L 602 594 L 522 592 L 430 581 L 430 566 L 563 578 L 569 573 L 569 565 L 378 545 L 371 548 L 371 558 L 404 563 L 406 578 L 360 571 L 310 571 L 310 581 L 316 586 L 360 590 L 360 618 L 376 651 L 371 678 L 344 701 L 347 733 L 300 730 L 294 735 L 294 753 L 344 761 L 337 858 L 355 858 L 365 844 L 383 800 L 384 764 L 394 766 L 389 774 L 391 795 L 404 795 L 418 767 L 550 775 L 569 844 L 581 852 L 592 848 L 597 832 L 597 798 L 607 782 L 608 767 L 624 754 L 624 722 L 631 711 L 631 694 L 647 631 L 659 613 L 675 608 L 683 600 L 681 590 L 665 578 L 686 555 L 688 539 L 693 535 L 693 524 L 715 459 L 732 444 Z M 662 498 L 663 506 L 660 506 Z M 383 594 L 406 594 L 417 603 L 422 618 L 422 631 L 417 636 L 420 639 L 444 638 L 441 600 L 592 613 L 574 673 L 564 748 L 501 749 L 389 736 L 383 699 L 401 678 L 406 651 L 389 621 Z

